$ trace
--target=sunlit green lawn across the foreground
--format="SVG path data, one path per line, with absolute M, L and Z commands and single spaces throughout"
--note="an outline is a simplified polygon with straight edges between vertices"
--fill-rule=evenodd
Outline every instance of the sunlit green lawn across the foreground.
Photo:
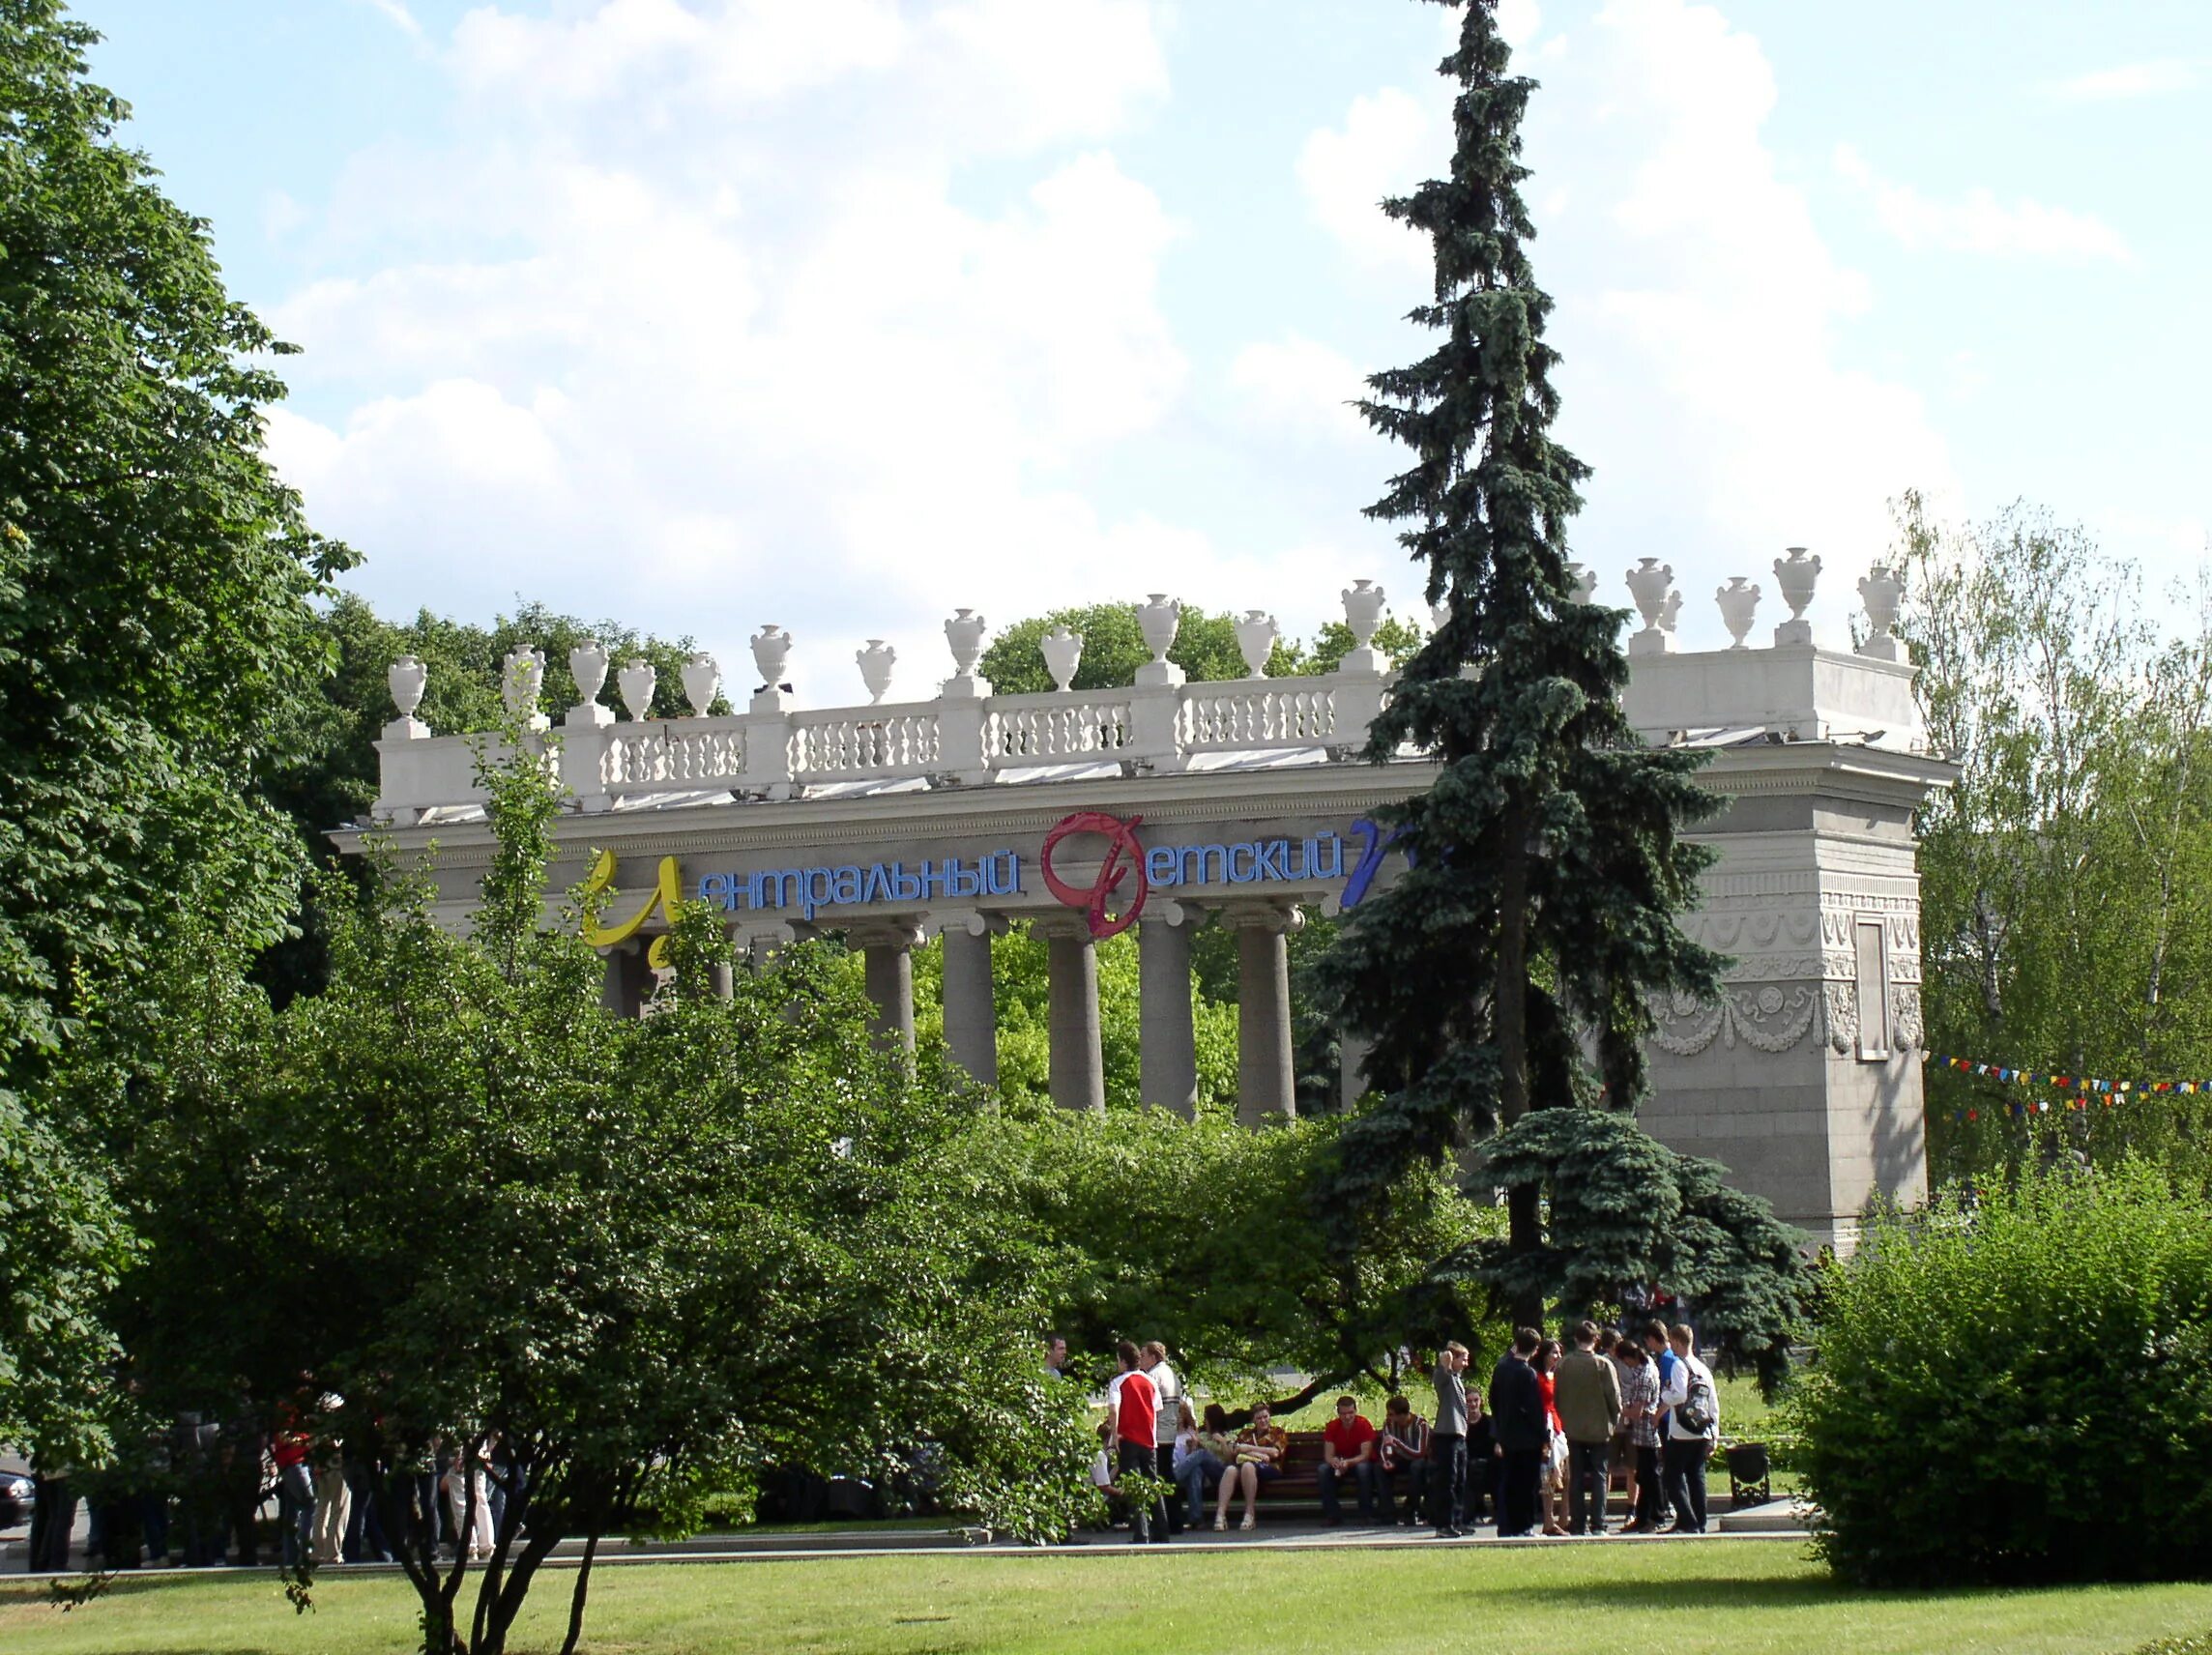
M 549 1575 L 520 1651 L 560 1646 L 568 1575 Z M 270 1575 L 131 1580 L 62 1615 L 0 1589 L 0 1648 L 208 1655 L 414 1648 L 405 1582 L 330 1580 L 294 1617 Z M 1544 1549 L 1161 1551 L 1139 1558 L 880 1555 L 830 1562 L 639 1564 L 595 1575 L 599 1655 L 856 1651 L 863 1655 L 1177 1655 L 1438 1648 L 1526 1655 L 2035 1655 L 2132 1651 L 2212 1626 L 2212 1586 L 1860 1593 L 1794 1542 Z

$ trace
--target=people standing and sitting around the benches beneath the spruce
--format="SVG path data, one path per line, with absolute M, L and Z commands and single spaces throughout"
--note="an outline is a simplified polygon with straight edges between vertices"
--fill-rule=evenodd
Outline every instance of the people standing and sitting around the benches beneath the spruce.
M 1237 1429 L 1221 1403 L 1194 1412 L 1161 1343 L 1124 1341 L 1117 1354 L 1093 1480 L 1126 1507 L 1133 1538 L 1203 1527 L 1208 1498 L 1217 1531 L 1239 1502 L 1252 1529 L 1261 1491 L 1290 1458 L 1267 1405 Z M 1380 1425 L 1358 1398 L 1336 1401 L 1314 1469 L 1325 1524 L 1345 1522 L 1349 1489 L 1360 1522 L 1427 1520 L 1453 1540 L 1480 1522 L 1504 1538 L 1705 1533 L 1721 1396 L 1686 1323 L 1621 1332 L 1584 1321 L 1566 1341 L 1522 1328 L 1486 1387 L 1469 1387 L 1469 1361 L 1460 1343 L 1438 1352 L 1433 1418 L 1407 1396 L 1389 1398 Z M 1046 1367 L 1064 1365 L 1066 1343 L 1048 1341 Z

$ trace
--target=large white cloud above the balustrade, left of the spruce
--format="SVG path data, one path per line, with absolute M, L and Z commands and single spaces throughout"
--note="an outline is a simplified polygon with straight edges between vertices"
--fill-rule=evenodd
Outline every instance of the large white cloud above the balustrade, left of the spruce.
M 860 637 L 900 686 L 933 620 L 1015 620 L 1203 566 L 1082 460 L 1179 403 L 1179 235 L 1097 139 L 1166 86 L 1141 0 L 480 7 L 440 62 L 462 135 L 356 157 L 270 449 L 394 608 L 515 591 L 692 631 L 768 617 L 810 699 Z M 1004 199 L 953 175 L 1011 162 Z M 849 639 L 849 642 L 847 642 Z

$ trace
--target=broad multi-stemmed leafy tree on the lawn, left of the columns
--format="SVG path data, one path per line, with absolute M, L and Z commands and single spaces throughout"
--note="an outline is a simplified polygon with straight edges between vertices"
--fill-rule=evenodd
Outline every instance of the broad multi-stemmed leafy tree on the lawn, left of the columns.
M 159 1093 L 135 1113 L 175 1122 L 131 1164 L 153 1398 L 226 1370 L 263 1403 L 343 1394 L 438 1655 L 502 1651 L 564 1536 L 686 1529 L 779 1463 L 936 1465 L 947 1502 L 1064 1533 L 1077 1398 L 1035 1365 L 1024 1243 L 953 1188 L 973 1091 L 878 1049 L 818 947 L 712 993 L 730 954 L 697 905 L 655 1013 L 606 1011 L 599 958 L 542 914 L 553 783 L 529 761 L 484 781 L 469 936 L 387 867 L 367 912 L 334 907 L 323 993 L 274 1011 L 204 971 L 131 1078 Z M 438 1443 L 495 1451 L 513 1489 L 480 1566 L 409 1513 Z

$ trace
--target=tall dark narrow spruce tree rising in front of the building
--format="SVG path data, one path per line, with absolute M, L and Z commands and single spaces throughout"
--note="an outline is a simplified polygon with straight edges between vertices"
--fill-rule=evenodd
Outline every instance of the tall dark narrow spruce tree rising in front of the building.
M 1416 456 L 1367 516 L 1407 524 L 1398 540 L 1449 620 L 1405 664 L 1367 752 L 1411 743 L 1442 763 L 1389 812 L 1407 872 L 1352 912 L 1321 967 L 1385 1093 L 1347 1128 L 1325 1204 L 1345 1241 L 1416 1159 L 1531 1108 L 1632 1108 L 1646 993 L 1710 993 L 1723 962 L 1674 925 L 1710 861 L 1677 830 L 1719 799 L 1694 783 L 1697 754 L 1628 728 L 1624 615 L 1577 602 L 1568 571 L 1588 467 L 1551 438 L 1559 356 L 1520 197 L 1535 82 L 1506 73 L 1493 9 L 1469 4 L 1440 64 L 1460 84 L 1451 175 L 1383 204 L 1433 243 L 1436 296 L 1411 319 L 1442 341 L 1367 381 L 1360 412 Z M 1542 1243 L 1540 1193 L 1520 1184 L 1511 1252 Z M 1511 1303 L 1542 1314 L 1526 1288 Z

